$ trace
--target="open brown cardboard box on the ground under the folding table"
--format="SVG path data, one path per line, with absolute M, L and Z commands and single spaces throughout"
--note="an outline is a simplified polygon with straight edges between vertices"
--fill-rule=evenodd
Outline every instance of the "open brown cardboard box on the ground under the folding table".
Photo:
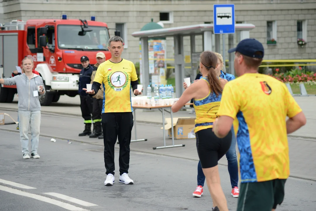
M 171 118 L 166 118 L 166 121 L 165 130 L 168 130 L 168 138 L 172 139 Z M 194 121 L 195 118 L 192 117 L 173 118 L 174 139 L 195 139 L 195 134 L 191 133 L 195 127 Z

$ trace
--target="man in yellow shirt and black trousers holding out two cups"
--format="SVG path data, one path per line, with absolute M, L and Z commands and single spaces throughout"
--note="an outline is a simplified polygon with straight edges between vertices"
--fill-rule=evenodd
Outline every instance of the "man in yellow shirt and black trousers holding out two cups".
M 95 95 L 103 86 L 102 129 L 104 142 L 104 163 L 106 168 L 106 180 L 104 185 L 114 183 L 114 145 L 119 140 L 119 182 L 133 184 L 128 176 L 130 163 L 131 131 L 133 127 L 133 107 L 131 103 L 131 88 L 134 95 L 141 95 L 137 90 L 138 78 L 135 65 L 122 59 L 123 39 L 114 36 L 109 39 L 109 51 L 111 59 L 99 65 L 92 90 L 89 93 Z M 85 90 L 85 89 L 84 89 Z

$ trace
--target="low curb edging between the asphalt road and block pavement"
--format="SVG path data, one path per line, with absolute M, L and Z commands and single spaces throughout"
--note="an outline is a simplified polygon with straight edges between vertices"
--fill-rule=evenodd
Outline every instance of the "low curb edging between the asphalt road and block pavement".
M 10 130 L 10 129 L 0 129 L 0 130 L 5 130 L 5 131 L 9 131 L 9 132 L 15 132 L 18 133 L 16 130 Z M 30 133 L 29 133 L 30 134 Z M 52 138 L 52 136 L 48 136 L 48 135 L 40 135 L 46 138 Z M 60 139 L 60 140 L 68 140 L 68 139 L 64 139 L 64 138 L 59 138 L 59 137 L 54 137 L 55 139 Z M 315 138 L 316 139 L 316 138 Z M 85 143 L 85 144 L 91 144 L 91 145 L 97 145 L 97 146 L 103 146 L 102 144 L 96 144 L 96 143 L 91 143 L 91 142 L 86 142 L 86 141 L 79 141 L 79 140 L 73 140 L 73 139 L 69 139 L 69 141 L 75 141 L 75 142 L 80 142 L 80 143 Z M 187 159 L 187 160 L 195 160 L 198 161 L 196 159 L 190 159 L 190 158 L 183 158 L 183 157 L 179 157 L 179 156 L 172 156 L 172 155 L 164 155 L 164 154 L 158 154 L 158 153 L 150 153 L 150 152 L 143 152 L 140 150 L 131 150 L 134 152 L 142 152 L 142 153 L 148 153 L 148 154 L 152 154 L 152 155 L 161 155 L 161 156 L 167 156 L 167 157 L 173 157 L 173 158 L 181 158 L 181 159 Z M 218 164 L 221 166 L 227 166 L 226 164 Z M 297 175 L 290 175 L 289 177 L 292 178 L 297 178 L 297 179 L 304 179 L 304 180 L 310 180 L 310 181 L 315 181 L 316 182 L 316 178 L 310 178 L 310 177 L 302 177 L 302 176 L 297 176 Z

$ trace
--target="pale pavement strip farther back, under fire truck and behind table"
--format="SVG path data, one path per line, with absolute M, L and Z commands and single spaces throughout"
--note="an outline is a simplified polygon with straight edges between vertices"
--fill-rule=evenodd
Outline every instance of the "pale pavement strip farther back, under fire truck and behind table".
M 316 96 L 295 96 L 296 102 L 301 106 L 306 118 L 307 123 L 304 127 L 290 134 L 289 137 L 304 137 L 316 139 Z M 0 109 L 3 110 L 17 110 L 18 97 L 15 98 L 12 103 L 0 103 Z M 186 106 L 187 109 L 191 109 Z M 56 103 L 52 103 L 51 106 L 42 106 L 42 114 L 58 114 L 58 115 L 74 115 L 81 116 L 80 110 L 80 98 L 69 96 L 60 96 L 60 100 Z M 168 109 L 170 111 L 170 109 Z M 157 109 L 146 110 L 146 109 L 135 109 L 136 120 L 138 123 L 151 123 L 162 125 L 162 115 Z M 165 117 L 170 118 L 170 115 L 165 112 Z M 189 114 L 188 111 L 179 111 L 173 114 L 173 117 L 195 117 L 194 114 Z

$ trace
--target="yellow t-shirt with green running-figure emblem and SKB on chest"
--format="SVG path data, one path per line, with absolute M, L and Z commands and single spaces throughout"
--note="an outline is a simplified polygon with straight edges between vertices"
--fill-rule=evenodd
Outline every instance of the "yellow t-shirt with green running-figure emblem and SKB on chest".
M 137 81 L 135 65 L 126 59 L 119 63 L 106 60 L 98 67 L 94 81 L 103 85 L 102 113 L 133 112 L 131 81 Z

